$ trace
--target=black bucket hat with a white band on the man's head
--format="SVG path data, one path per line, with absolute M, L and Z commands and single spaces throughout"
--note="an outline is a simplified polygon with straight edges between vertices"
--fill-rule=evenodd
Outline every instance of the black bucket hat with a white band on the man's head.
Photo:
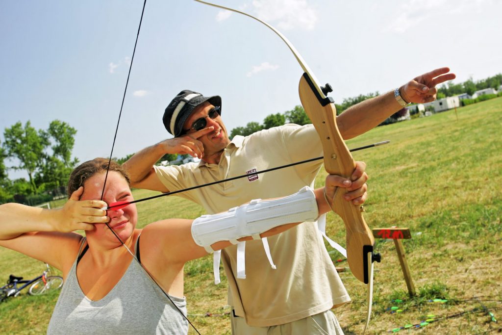
M 162 118 L 164 127 L 174 137 L 180 136 L 183 132 L 183 124 L 190 117 L 194 108 L 205 101 L 209 101 L 213 106 L 218 106 L 221 114 L 221 97 L 219 95 L 203 96 L 189 89 L 182 90 L 164 111 Z

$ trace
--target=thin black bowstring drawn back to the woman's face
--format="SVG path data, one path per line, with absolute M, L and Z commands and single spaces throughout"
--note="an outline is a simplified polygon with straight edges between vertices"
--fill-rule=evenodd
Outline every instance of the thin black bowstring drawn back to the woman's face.
M 126 100 L 127 87 L 128 87 L 128 84 L 129 84 L 129 78 L 131 76 L 131 69 L 133 68 L 134 55 L 136 53 L 136 46 L 138 45 L 138 38 L 140 36 L 141 23 L 143 22 L 143 14 L 145 13 L 145 6 L 146 6 L 146 4 L 147 4 L 147 0 L 145 0 L 145 2 L 143 3 L 143 10 L 141 12 L 140 25 L 138 27 L 138 33 L 136 34 L 136 42 L 134 44 L 133 56 L 131 57 L 131 64 L 129 65 L 129 73 L 128 73 L 128 76 L 127 76 L 126 88 L 124 88 L 124 93 L 123 93 L 123 96 L 122 96 L 122 104 L 120 105 L 120 113 L 118 114 L 117 127 L 115 128 L 115 135 L 113 136 L 113 144 L 111 145 L 110 159 L 108 160 L 108 166 L 106 167 L 106 174 L 105 174 L 104 183 L 103 183 L 103 191 L 101 192 L 101 200 L 103 200 L 104 189 L 105 189 L 105 186 L 106 186 L 106 179 L 108 178 L 108 171 L 110 170 L 111 157 L 113 155 L 113 148 L 115 147 L 115 140 L 117 138 L 118 125 L 120 123 L 120 116 L 122 115 L 122 108 L 123 108 L 123 105 L 124 105 L 124 100 Z M 181 315 L 183 315 L 183 317 L 188 321 L 188 323 L 190 323 L 190 325 L 200 335 L 200 332 L 197 330 L 197 328 L 195 328 L 195 326 L 193 325 L 193 323 L 190 322 L 190 320 L 188 319 L 188 317 L 185 314 L 183 314 L 183 312 L 181 311 L 181 309 L 174 303 L 174 301 L 171 299 L 171 297 L 162 289 L 162 287 L 157 283 L 157 281 L 153 278 L 153 276 L 150 274 L 150 272 L 148 272 L 147 269 L 145 269 L 145 267 L 143 266 L 143 264 L 141 264 L 141 262 L 134 256 L 134 254 L 131 252 L 131 250 L 129 250 L 129 248 L 122 242 L 122 240 L 118 237 L 118 235 L 111 229 L 111 227 L 108 225 L 108 222 L 105 222 L 105 224 L 106 224 L 106 227 L 108 227 L 108 229 L 117 238 L 117 240 L 120 242 L 120 244 L 122 246 L 124 246 L 129 251 L 129 253 L 131 253 L 131 255 L 133 256 L 133 259 L 135 259 L 136 262 L 138 262 L 138 264 L 143 268 L 143 270 L 145 270 L 145 272 L 150 276 L 150 278 L 152 279 L 152 281 L 160 288 L 160 290 L 169 299 L 169 301 L 171 301 L 171 304 L 180 312 Z

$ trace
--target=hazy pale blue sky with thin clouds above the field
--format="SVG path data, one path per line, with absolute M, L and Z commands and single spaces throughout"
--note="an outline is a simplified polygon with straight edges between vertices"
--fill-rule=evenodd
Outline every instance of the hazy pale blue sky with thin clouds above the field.
M 281 31 L 336 103 L 443 66 L 455 83 L 502 72 L 498 0 L 217 1 Z M 16 122 L 47 129 L 57 119 L 77 130 L 80 162 L 109 156 L 142 7 L 0 1 L 0 142 Z M 171 138 L 162 116 L 183 89 L 220 95 L 230 132 L 300 104 L 301 75 L 287 46 L 255 20 L 192 0 L 147 0 L 113 157 Z

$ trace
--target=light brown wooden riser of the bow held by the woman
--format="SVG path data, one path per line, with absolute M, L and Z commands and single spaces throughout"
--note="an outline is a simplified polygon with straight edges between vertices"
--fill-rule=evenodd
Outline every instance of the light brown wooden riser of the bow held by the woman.
M 309 77 L 302 76 L 299 83 L 300 100 L 321 139 L 324 168 L 330 174 L 350 179 L 355 162 L 338 131 L 335 105 L 333 102 L 326 103 L 328 101 L 319 97 L 312 86 L 313 83 L 309 82 Z M 324 103 L 326 104 L 323 106 Z M 367 261 L 367 253 L 372 252 L 374 238 L 362 217 L 360 206 L 345 200 L 343 198 L 345 193 L 347 193 L 345 188 L 336 190 L 332 209 L 345 224 L 347 261 L 350 271 L 358 280 L 367 284 L 371 266 Z

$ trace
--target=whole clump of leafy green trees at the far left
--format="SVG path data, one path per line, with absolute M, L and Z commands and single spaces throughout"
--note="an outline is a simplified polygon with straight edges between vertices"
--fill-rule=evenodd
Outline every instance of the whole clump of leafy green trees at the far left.
M 0 143 L 0 203 L 37 204 L 66 194 L 70 173 L 78 163 L 72 158 L 77 130 L 54 120 L 46 130 L 37 130 L 28 121 L 4 130 Z M 7 167 L 6 160 L 15 163 Z M 23 170 L 28 180 L 8 178 L 8 169 Z

